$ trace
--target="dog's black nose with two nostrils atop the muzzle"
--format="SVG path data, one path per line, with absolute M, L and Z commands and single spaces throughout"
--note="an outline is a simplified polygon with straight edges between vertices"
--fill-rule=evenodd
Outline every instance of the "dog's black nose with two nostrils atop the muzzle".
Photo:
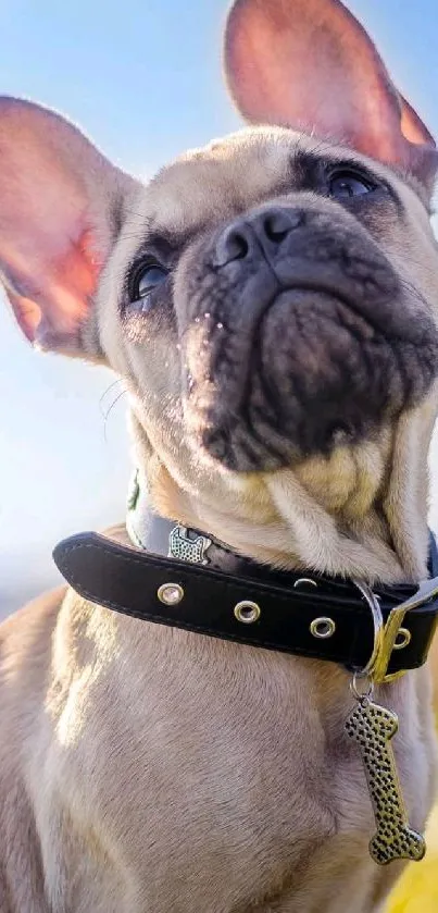
M 242 215 L 227 225 L 216 242 L 215 267 L 225 267 L 236 260 L 246 260 L 260 249 L 275 250 L 293 229 L 302 224 L 303 213 L 298 209 L 275 206 L 252 215 Z

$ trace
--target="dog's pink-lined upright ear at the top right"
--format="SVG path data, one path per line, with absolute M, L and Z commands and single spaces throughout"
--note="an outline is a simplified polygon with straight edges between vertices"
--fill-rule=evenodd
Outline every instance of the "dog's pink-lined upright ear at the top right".
M 247 120 L 335 139 L 412 172 L 431 192 L 435 141 L 339 0 L 236 0 L 224 64 Z

